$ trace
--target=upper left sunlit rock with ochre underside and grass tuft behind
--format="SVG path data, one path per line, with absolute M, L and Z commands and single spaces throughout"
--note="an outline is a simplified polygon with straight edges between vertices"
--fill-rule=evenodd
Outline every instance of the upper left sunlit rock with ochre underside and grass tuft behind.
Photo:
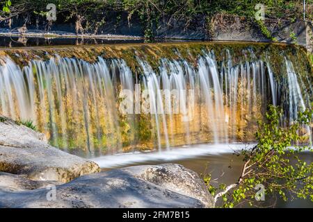
M 31 180 L 68 182 L 99 172 L 95 162 L 50 146 L 45 136 L 10 119 L 0 121 L 0 171 L 24 174 Z

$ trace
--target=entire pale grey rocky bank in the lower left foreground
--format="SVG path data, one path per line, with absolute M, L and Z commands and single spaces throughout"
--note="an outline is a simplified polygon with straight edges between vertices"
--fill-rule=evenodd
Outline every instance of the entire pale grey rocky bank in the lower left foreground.
M 214 207 L 197 173 L 178 164 L 99 172 L 0 118 L 0 207 Z

